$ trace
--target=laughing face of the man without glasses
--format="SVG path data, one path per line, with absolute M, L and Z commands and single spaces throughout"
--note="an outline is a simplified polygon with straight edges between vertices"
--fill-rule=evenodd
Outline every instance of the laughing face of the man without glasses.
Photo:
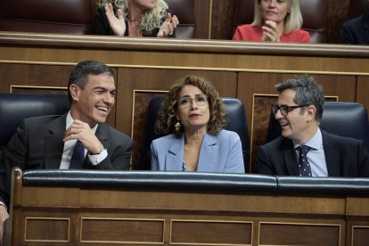
M 103 123 L 115 102 L 114 78 L 108 74 L 88 75 L 84 89 L 70 86 L 73 101 L 70 114 L 73 119 L 86 122 L 90 127 Z

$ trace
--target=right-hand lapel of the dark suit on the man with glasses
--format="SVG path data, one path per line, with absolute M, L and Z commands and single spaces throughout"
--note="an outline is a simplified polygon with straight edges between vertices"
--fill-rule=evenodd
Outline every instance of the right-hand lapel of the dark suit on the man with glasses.
M 334 140 L 326 132 L 323 130 L 321 131 L 328 176 L 340 176 L 339 151 L 335 147 L 336 144 L 334 143 Z

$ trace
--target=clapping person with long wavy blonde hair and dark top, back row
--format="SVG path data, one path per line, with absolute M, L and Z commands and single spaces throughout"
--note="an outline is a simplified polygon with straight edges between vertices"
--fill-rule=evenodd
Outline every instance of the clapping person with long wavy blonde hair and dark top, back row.
M 179 21 L 163 0 L 102 0 L 93 34 L 126 37 L 174 37 Z

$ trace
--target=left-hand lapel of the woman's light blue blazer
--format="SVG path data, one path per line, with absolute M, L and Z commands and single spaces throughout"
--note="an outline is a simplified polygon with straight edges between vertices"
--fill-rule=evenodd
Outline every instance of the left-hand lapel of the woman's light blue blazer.
M 184 165 L 184 134 L 181 138 L 173 137 L 165 157 L 166 171 L 182 171 Z

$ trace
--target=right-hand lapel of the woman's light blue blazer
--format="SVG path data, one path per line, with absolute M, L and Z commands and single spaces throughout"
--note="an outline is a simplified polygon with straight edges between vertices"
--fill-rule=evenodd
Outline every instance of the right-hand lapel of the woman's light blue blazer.
M 199 165 L 197 167 L 198 171 L 215 172 L 217 171 L 216 168 L 220 168 L 219 170 L 224 169 L 224 167 L 217 167 L 217 165 L 214 165 L 218 148 L 219 144 L 217 144 L 217 137 L 215 135 L 205 134 L 201 143 Z

